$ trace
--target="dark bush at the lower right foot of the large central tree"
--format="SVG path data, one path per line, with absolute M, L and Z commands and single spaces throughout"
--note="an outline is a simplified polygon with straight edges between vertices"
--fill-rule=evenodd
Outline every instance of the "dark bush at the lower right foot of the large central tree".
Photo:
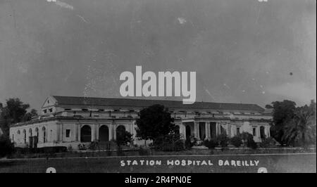
M 184 142 L 180 139 L 179 134 L 160 136 L 156 138 L 153 145 L 155 150 L 180 151 L 185 149 Z

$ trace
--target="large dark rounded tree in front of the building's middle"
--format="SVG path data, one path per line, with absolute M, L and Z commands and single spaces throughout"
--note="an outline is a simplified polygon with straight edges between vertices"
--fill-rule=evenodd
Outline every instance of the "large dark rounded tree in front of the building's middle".
M 139 112 L 137 120 L 137 137 L 154 140 L 175 131 L 174 120 L 163 105 L 151 105 Z

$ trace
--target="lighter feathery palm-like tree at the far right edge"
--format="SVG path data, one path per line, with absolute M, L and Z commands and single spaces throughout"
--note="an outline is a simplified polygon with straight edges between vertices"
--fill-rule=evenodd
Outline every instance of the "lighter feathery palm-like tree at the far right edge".
M 316 143 L 316 103 L 296 108 L 294 117 L 284 127 L 283 141 L 292 146 Z

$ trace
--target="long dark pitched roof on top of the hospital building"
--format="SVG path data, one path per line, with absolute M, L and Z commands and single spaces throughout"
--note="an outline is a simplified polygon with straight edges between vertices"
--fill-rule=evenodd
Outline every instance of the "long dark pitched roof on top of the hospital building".
M 240 103 L 209 103 L 195 102 L 191 105 L 183 104 L 182 101 L 149 100 L 135 98 L 91 98 L 75 96 L 53 96 L 58 105 L 87 105 L 87 106 L 131 106 L 148 107 L 154 104 L 164 105 L 166 108 L 186 108 L 186 109 L 209 109 L 209 110 L 248 110 L 263 112 L 264 109 L 256 104 Z

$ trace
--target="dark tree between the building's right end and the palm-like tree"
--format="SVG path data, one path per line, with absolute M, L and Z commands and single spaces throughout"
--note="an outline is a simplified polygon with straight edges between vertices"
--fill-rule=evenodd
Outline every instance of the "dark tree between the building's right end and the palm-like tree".
M 284 135 L 284 129 L 292 117 L 294 117 L 294 111 L 296 109 L 296 103 L 294 101 L 284 100 L 282 102 L 275 101 L 273 104 L 273 124 L 271 127 L 271 136 L 275 138 L 280 144 L 287 143 L 282 138 Z

